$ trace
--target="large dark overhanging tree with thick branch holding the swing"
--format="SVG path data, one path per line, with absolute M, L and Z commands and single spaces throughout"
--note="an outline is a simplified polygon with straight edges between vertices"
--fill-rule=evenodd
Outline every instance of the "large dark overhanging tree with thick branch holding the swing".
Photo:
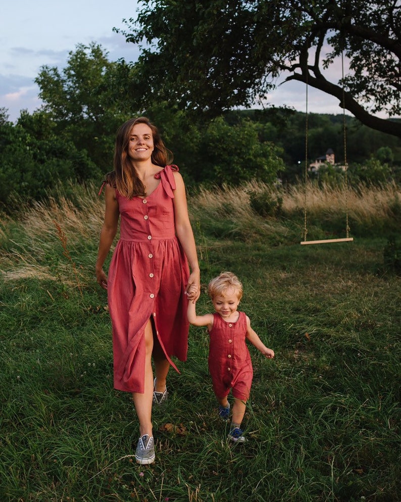
M 279 74 L 338 98 L 362 123 L 401 137 L 399 0 L 142 0 L 122 30 L 140 44 L 133 88 L 219 114 L 264 100 Z M 116 30 L 119 31 L 119 30 Z M 327 54 L 323 54 L 328 45 Z M 323 70 L 343 55 L 338 82 Z

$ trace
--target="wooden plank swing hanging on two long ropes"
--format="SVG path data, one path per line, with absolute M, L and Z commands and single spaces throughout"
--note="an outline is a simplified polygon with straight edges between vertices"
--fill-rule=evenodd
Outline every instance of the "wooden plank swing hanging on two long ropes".
M 342 69 L 342 81 L 344 79 L 344 58 L 341 54 L 341 69 Z M 345 235 L 343 239 L 322 239 L 318 241 L 308 241 L 308 213 L 307 213 L 307 191 L 308 191 L 308 71 L 306 75 L 306 132 L 305 132 L 305 173 L 304 173 L 304 240 L 300 244 L 325 244 L 330 242 L 349 242 L 353 241 L 353 237 L 349 237 L 349 225 L 348 225 L 348 178 L 347 170 L 348 163 L 346 159 L 346 122 L 345 122 L 345 92 L 344 85 L 342 85 L 342 112 L 343 112 L 343 133 L 344 133 L 344 173 L 345 173 Z

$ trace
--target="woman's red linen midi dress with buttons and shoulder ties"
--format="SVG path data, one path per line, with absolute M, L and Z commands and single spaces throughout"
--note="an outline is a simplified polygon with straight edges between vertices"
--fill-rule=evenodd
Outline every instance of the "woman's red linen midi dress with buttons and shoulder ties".
M 184 291 L 189 268 L 175 235 L 173 170 L 178 167 L 166 166 L 155 175 L 161 182 L 146 198 L 127 199 L 116 191 L 120 239 L 109 267 L 108 301 L 114 387 L 122 391 L 144 392 L 144 329 L 149 318 L 175 370 L 171 357 L 185 361 L 187 356 Z

